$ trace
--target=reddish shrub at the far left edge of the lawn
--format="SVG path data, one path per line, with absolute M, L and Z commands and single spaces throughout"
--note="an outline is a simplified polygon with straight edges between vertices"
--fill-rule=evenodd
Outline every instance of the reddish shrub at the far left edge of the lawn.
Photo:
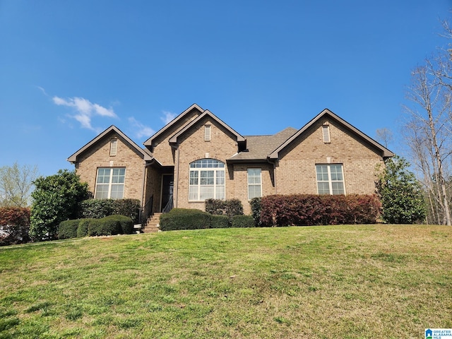
M 0 208 L 0 246 L 30 242 L 30 208 Z

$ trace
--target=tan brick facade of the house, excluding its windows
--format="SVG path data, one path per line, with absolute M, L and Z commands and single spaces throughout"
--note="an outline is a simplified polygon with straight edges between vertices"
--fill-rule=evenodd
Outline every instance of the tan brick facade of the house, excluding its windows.
M 205 141 L 206 125 L 210 126 L 209 141 Z M 329 142 L 323 139 L 323 126 L 328 126 Z M 118 140 L 115 156 L 110 155 L 112 138 Z M 76 165 L 77 173 L 82 181 L 88 182 L 93 194 L 98 167 L 126 167 L 124 198 L 141 200 L 145 215 L 149 215 L 164 207 L 165 175 L 171 175 L 166 178 L 174 181 L 174 207 L 204 210 L 203 201 L 189 201 L 189 165 L 206 158 L 220 160 L 225 163 L 225 198 L 238 198 L 244 212 L 249 214 L 249 168 L 261 169 L 263 196 L 317 194 L 316 164 L 342 164 L 346 194 L 373 194 L 376 165 L 393 155 L 328 110 L 298 131 L 286 129 L 275 134 L 275 138 L 249 138 L 252 147 L 248 150 L 246 138 L 210 112 L 192 105 L 145 141 L 148 150 L 112 126 L 74 153 L 69 161 Z

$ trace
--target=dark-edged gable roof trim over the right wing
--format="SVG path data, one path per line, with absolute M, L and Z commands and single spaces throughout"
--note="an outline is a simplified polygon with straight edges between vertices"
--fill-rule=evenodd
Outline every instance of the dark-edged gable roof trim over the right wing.
M 393 157 L 394 153 L 391 152 L 391 150 L 388 150 L 388 148 L 384 147 L 383 145 L 381 145 L 380 143 L 377 143 L 376 141 L 374 141 L 374 139 L 370 138 L 369 136 L 367 136 L 366 134 L 362 133 L 362 131 L 359 131 L 359 129 L 357 129 L 355 126 L 352 126 L 351 124 L 349 124 L 347 121 L 345 121 L 344 119 L 338 117 L 336 114 L 334 114 L 333 112 L 331 112 L 329 109 L 323 109 L 322 112 L 320 112 L 316 117 L 314 117 L 314 119 L 312 119 L 311 121 L 309 121 L 306 125 L 304 125 L 301 129 L 299 129 L 299 131 L 297 131 L 297 133 L 295 133 L 293 136 L 291 136 L 290 138 L 287 139 L 287 141 L 285 141 L 285 143 L 283 143 L 282 145 L 280 145 L 278 148 L 276 148 L 269 156 L 268 158 L 270 160 L 276 160 L 280 157 L 279 153 L 281 150 L 284 150 L 284 148 L 287 147 L 287 145 L 290 145 L 290 143 L 292 143 L 293 141 L 295 141 L 295 139 L 297 139 L 299 136 L 301 136 L 305 131 L 307 131 L 307 129 L 309 129 L 309 127 L 311 127 L 312 125 L 314 125 L 317 121 L 319 121 L 320 119 L 323 119 L 323 117 L 329 117 L 335 121 L 337 121 L 339 124 L 345 126 L 345 128 L 347 128 L 349 131 L 351 131 L 352 133 L 354 133 L 356 136 L 358 136 L 359 138 L 362 139 L 362 141 L 364 141 L 365 143 L 367 143 L 368 145 L 373 146 L 374 148 L 376 148 L 377 150 L 381 151 L 381 156 L 383 158 L 386 157 Z

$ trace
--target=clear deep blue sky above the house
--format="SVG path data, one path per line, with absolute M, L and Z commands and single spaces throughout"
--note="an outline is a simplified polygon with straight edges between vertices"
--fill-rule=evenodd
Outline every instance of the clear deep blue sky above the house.
M 396 135 L 450 0 L 0 0 L 0 166 L 55 174 L 114 124 L 138 145 L 193 103 L 242 135 L 324 108 Z M 389 145 L 403 155 L 403 141 Z

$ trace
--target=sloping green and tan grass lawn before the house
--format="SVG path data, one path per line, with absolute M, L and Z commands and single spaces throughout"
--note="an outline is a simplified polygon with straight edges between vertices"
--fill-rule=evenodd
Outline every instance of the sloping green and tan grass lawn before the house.
M 11 246 L 0 338 L 421 338 L 452 328 L 451 240 L 352 225 Z

